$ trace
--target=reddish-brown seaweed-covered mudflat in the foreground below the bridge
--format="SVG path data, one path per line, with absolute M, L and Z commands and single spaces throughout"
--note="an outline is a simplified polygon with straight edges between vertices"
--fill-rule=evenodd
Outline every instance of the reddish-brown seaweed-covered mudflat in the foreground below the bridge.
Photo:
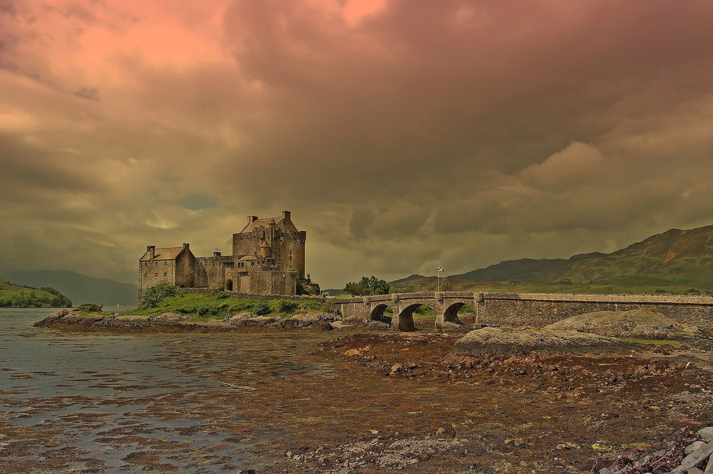
M 413 333 L 368 324 L 314 334 L 290 354 L 298 364 L 328 367 L 327 377 L 261 377 L 248 391 L 202 392 L 190 412 L 168 400 L 145 415 L 166 416 L 170 407 L 172 417 L 210 419 L 235 430 L 228 446 L 250 439 L 251 430 L 284 433 L 241 460 L 206 458 L 222 470 L 260 473 L 583 473 L 615 453 L 682 445 L 713 425 L 709 339 L 615 344 L 603 336 L 602 351 L 565 344 L 508 354 L 458 349 L 463 329 L 437 333 L 428 319 L 419 325 Z M 228 369 L 210 378 L 230 387 L 244 385 L 244 375 Z M 235 425 L 230 413 L 250 426 Z M 127 466 L 185 467 L 185 448 L 137 442 L 144 444 Z M 175 463 L 166 461 L 172 453 Z

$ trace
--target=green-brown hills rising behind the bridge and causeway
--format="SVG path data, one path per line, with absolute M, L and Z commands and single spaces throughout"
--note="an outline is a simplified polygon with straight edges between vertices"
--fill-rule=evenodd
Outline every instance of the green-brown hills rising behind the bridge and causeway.
M 713 225 L 667 230 L 610 254 L 507 260 L 444 281 L 456 291 L 713 294 Z M 436 277 L 391 284 L 434 291 Z

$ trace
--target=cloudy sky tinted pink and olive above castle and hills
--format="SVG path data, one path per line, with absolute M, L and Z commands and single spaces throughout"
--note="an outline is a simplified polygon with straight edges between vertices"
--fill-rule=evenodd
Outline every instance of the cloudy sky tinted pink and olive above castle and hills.
M 709 0 L 0 0 L 0 274 L 291 210 L 322 287 L 713 224 Z M 226 252 L 227 253 L 227 252 Z

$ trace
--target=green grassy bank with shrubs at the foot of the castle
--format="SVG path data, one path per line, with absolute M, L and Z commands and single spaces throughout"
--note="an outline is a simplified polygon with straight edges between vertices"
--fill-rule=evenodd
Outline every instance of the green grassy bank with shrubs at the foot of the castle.
M 163 313 L 180 313 L 196 321 L 206 321 L 231 314 L 252 312 L 258 302 L 257 299 L 232 298 L 225 292 L 210 294 L 179 292 L 173 297 L 161 300 L 154 308 L 135 309 L 126 314 L 158 316 Z M 293 314 L 329 312 L 334 309 L 334 304 L 314 300 L 275 299 L 268 301 L 267 307 L 268 312 L 265 315 L 287 317 Z

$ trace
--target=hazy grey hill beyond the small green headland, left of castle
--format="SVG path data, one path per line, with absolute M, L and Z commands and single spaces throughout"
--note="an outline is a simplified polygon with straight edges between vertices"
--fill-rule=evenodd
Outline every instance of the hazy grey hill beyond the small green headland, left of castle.
M 136 304 L 138 285 L 94 278 L 76 272 L 14 272 L 3 276 L 14 284 L 52 287 L 66 295 L 76 306 L 82 303 Z

